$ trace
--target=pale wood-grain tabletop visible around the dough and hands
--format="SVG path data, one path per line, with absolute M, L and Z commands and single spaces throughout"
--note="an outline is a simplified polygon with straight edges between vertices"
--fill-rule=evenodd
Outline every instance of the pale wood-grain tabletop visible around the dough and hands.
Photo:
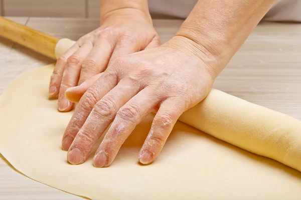
M 99 24 L 96 19 L 10 18 L 74 40 Z M 181 23 L 182 20 L 154 21 L 162 42 L 171 38 Z M 0 94 L 19 75 L 52 62 L 54 60 L 0 38 Z M 214 87 L 301 120 L 301 24 L 259 24 Z M 0 159 L 0 199 L 78 198 L 21 175 Z

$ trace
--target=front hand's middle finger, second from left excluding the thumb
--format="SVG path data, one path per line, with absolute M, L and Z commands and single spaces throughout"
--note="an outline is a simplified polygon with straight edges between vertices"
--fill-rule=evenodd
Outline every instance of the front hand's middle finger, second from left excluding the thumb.
M 80 164 L 88 158 L 95 143 L 112 122 L 118 109 L 138 90 L 139 84 L 121 80 L 95 104 L 69 148 L 68 161 L 70 163 Z

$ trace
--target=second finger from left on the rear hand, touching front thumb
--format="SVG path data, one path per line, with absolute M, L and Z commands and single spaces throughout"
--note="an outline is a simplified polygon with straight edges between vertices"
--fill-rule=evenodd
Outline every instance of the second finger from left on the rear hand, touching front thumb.
M 68 99 L 65 97 L 65 91 L 67 88 L 77 85 L 82 61 L 89 54 L 92 47 L 92 42 L 87 40 L 67 59 L 59 93 L 58 109 L 60 111 L 69 111 L 72 109 L 73 103 L 68 101 Z

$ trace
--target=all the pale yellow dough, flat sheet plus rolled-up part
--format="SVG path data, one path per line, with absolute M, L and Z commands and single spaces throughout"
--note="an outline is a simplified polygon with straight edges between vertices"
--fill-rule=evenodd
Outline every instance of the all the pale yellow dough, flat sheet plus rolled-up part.
M 21 76 L 0 97 L 0 152 L 25 175 L 92 199 L 301 199 L 301 173 L 286 166 L 301 170 L 301 122 L 218 90 L 180 120 L 286 165 L 178 121 L 158 159 L 142 166 L 138 152 L 153 115 L 111 166 L 95 168 L 92 157 L 67 163 L 61 138 L 72 112 L 48 99 L 53 67 Z

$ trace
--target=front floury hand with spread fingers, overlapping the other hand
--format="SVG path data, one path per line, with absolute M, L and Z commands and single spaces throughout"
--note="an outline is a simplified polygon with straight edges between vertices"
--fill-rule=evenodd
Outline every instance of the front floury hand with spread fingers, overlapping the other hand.
M 70 163 L 83 163 L 113 121 L 93 158 L 94 166 L 110 165 L 135 126 L 152 111 L 157 114 L 139 161 L 156 159 L 179 116 L 207 96 L 215 78 L 212 67 L 179 47 L 187 44 L 179 38 L 117 58 L 91 87 L 93 81 L 88 80 L 67 90 L 70 99 L 80 99 L 62 141 Z

